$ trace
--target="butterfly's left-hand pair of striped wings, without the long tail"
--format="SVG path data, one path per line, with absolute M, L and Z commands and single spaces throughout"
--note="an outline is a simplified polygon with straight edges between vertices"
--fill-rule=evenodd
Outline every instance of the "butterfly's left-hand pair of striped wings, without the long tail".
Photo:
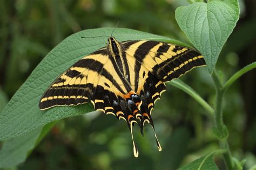
M 127 91 L 110 57 L 104 48 L 78 60 L 45 91 L 39 108 L 91 102 L 96 110 L 126 121 L 122 102 Z

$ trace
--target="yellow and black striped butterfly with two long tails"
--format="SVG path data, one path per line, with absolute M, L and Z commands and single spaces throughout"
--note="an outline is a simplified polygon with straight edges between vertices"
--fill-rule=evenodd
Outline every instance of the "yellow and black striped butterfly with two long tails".
M 132 125 L 138 123 L 143 134 L 155 102 L 166 90 L 165 82 L 178 78 L 194 67 L 204 66 L 203 56 L 193 49 L 152 40 L 109 44 L 84 56 L 60 75 L 45 91 L 39 108 L 78 105 L 91 102 L 96 110 L 122 118 L 129 126 L 133 153 L 138 148 L 133 140 Z M 156 137 L 158 150 L 161 146 Z

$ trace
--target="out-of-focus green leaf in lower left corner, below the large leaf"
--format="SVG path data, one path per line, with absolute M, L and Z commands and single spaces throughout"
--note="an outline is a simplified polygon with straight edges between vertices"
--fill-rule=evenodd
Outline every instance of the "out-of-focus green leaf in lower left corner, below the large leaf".
M 28 151 L 35 146 L 42 127 L 32 130 L 23 136 L 4 142 L 0 151 L 0 168 L 14 167 L 25 161 Z

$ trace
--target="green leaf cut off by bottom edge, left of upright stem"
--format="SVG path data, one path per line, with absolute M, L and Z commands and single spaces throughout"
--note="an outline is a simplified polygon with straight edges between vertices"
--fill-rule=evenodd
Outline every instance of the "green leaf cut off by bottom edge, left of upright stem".
M 194 160 L 190 164 L 186 164 L 179 168 L 179 170 L 186 170 L 186 169 L 208 169 L 208 170 L 216 170 L 218 167 L 215 165 L 213 161 L 215 152 L 212 152 L 210 154 L 205 155 L 204 157 L 201 157 L 197 160 Z

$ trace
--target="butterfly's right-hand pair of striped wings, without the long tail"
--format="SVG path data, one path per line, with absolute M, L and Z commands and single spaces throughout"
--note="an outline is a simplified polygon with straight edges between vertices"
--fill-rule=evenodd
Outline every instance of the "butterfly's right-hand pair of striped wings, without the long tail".
M 205 65 L 199 52 L 165 42 L 125 41 L 123 47 L 127 60 L 132 61 L 134 91 L 143 100 L 144 122 L 151 124 L 151 116 L 147 113 L 151 113 L 154 103 L 166 90 L 165 82 Z

